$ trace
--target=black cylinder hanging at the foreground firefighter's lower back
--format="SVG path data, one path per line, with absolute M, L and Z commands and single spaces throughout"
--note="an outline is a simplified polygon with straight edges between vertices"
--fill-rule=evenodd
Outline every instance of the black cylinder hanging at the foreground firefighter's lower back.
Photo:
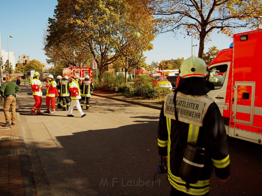
M 205 151 L 193 142 L 187 143 L 180 167 L 180 178 L 186 183 L 194 184 L 199 180 L 206 159 Z

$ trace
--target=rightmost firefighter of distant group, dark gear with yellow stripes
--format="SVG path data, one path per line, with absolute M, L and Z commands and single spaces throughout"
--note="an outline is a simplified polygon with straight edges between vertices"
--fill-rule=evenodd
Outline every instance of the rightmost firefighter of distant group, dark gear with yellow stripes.
M 86 109 L 89 109 L 89 103 L 90 103 L 90 97 L 91 97 L 91 91 L 94 90 L 94 84 L 90 81 L 90 77 L 88 74 L 85 75 L 84 81 L 81 84 L 81 108 L 83 109 L 84 101 L 86 99 Z

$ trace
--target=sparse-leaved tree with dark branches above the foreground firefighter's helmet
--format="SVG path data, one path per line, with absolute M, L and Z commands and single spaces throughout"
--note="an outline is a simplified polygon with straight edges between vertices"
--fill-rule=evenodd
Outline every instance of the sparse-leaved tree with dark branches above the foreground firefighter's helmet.
M 151 9 L 160 16 L 160 33 L 192 34 L 199 39 L 199 58 L 214 30 L 231 36 L 235 28 L 258 29 L 262 24 L 261 0 L 152 0 Z

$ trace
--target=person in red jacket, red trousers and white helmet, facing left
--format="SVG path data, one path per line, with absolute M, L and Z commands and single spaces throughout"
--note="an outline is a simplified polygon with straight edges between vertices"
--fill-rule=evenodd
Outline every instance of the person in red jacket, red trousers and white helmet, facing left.
M 46 94 L 46 106 L 47 110 L 44 113 L 53 114 L 55 113 L 55 89 L 56 89 L 56 82 L 54 80 L 54 76 L 49 74 L 47 76 L 47 94 Z M 51 101 L 51 108 L 50 108 L 50 101 Z

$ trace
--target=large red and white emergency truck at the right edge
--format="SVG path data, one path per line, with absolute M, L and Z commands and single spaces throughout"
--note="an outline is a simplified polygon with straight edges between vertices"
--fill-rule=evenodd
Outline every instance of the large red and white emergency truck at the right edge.
M 262 29 L 234 34 L 232 48 L 221 50 L 209 65 L 209 81 L 215 89 L 208 93 L 219 106 L 227 134 L 259 144 L 262 139 L 261 46 Z

